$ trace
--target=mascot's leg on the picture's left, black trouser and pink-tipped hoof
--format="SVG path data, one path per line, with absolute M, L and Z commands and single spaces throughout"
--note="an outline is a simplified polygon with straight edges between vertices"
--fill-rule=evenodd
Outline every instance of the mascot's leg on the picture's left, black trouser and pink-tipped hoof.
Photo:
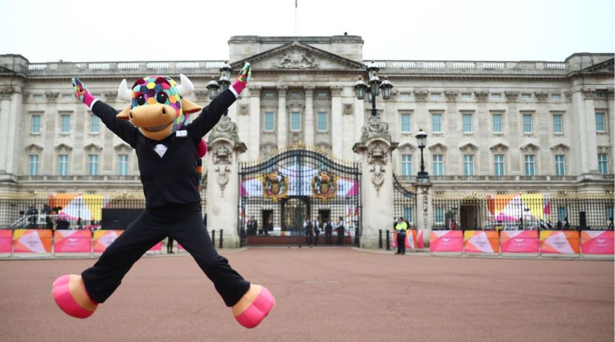
M 97 263 L 81 276 L 66 274 L 55 280 L 52 293 L 62 311 L 77 318 L 92 315 L 98 303 L 104 303 L 116 290 L 132 264 L 165 238 L 162 228 L 151 221 L 144 222 L 144 215 L 117 237 Z

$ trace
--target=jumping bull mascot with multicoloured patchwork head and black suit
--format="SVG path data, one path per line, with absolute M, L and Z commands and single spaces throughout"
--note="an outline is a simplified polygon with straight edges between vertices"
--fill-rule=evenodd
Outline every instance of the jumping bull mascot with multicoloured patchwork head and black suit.
M 188 114 L 201 108 L 186 96 L 192 82 L 180 75 L 181 84 L 165 76 L 138 79 L 127 89 L 124 79 L 117 96 L 130 105 L 121 113 L 93 97 L 78 78 L 76 96 L 100 117 L 113 133 L 135 149 L 146 209 L 93 267 L 81 276 L 66 274 L 53 284 L 54 300 L 66 314 L 86 318 L 111 296 L 122 278 L 143 253 L 171 236 L 186 249 L 212 280 L 239 324 L 253 328 L 269 313 L 275 298 L 267 288 L 250 284 L 218 255 L 203 223 L 195 173 L 197 157 L 206 152 L 205 133 L 213 128 L 250 79 L 245 63 L 239 78 L 186 124 Z

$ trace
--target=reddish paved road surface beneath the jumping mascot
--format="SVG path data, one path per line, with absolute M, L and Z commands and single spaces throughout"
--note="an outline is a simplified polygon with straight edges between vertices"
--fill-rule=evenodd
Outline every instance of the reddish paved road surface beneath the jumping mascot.
M 0 341 L 613 341 L 612 261 L 442 258 L 354 249 L 223 252 L 276 307 L 240 327 L 188 256 L 138 261 L 92 317 L 54 279 L 95 260 L 0 261 Z

